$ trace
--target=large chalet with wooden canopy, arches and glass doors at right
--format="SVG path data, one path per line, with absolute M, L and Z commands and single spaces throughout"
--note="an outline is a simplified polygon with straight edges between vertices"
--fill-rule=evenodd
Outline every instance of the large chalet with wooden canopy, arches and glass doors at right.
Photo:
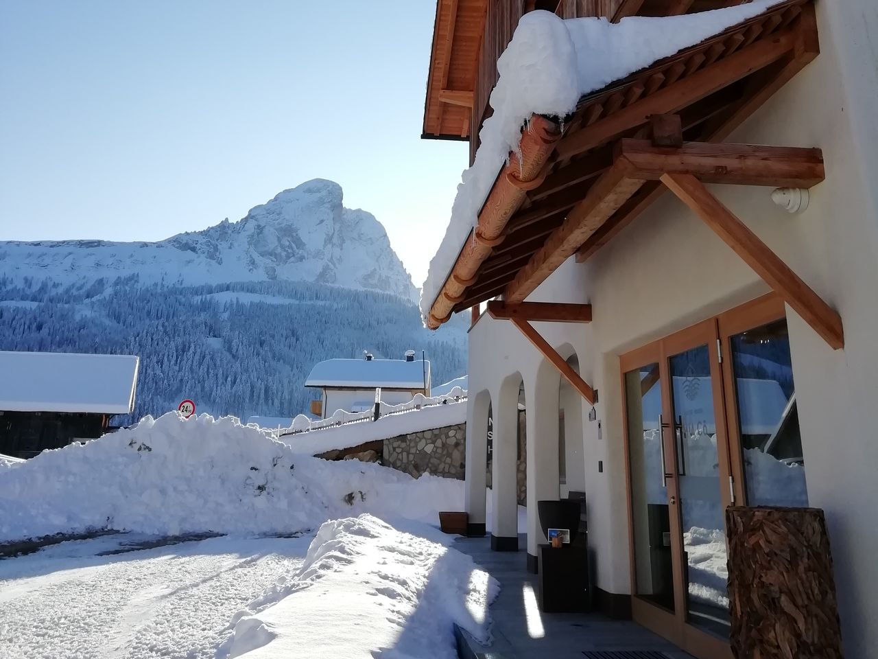
M 536 502 L 585 492 L 598 604 L 696 657 L 740 631 L 741 506 L 824 511 L 846 654 L 878 647 L 876 32 L 871 0 L 437 3 L 423 134 L 471 169 L 421 311 L 472 317 L 470 531 L 518 547 L 523 387 L 527 565 Z

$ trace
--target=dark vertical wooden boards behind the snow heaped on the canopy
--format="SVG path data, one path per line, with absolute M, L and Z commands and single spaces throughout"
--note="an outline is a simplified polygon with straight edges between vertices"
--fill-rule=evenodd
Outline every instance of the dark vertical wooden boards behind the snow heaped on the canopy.
M 623 0 L 558 0 L 555 13 L 561 18 L 588 16 L 613 16 Z M 482 122 L 493 112 L 488 105 L 491 91 L 497 84 L 497 60 L 515 33 L 515 27 L 527 8 L 534 3 L 529 0 L 489 0 L 485 31 L 479 48 L 476 82 L 472 104 L 472 132 L 470 138 L 470 164 L 479 149 L 479 129 Z M 545 4 L 545 3 L 543 3 Z

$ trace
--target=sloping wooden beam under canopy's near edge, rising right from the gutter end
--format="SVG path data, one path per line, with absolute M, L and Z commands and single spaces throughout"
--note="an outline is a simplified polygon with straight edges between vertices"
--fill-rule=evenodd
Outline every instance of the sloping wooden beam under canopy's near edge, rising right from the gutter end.
M 613 140 L 632 126 L 646 123 L 653 114 L 679 112 L 695 101 L 734 83 L 753 71 L 762 69 L 793 51 L 795 34 L 784 33 L 761 40 L 715 64 L 696 71 L 678 83 L 667 84 L 651 96 L 642 98 L 628 107 L 598 119 L 587 129 L 570 135 L 556 149 L 559 160 L 566 160 L 590 148 Z

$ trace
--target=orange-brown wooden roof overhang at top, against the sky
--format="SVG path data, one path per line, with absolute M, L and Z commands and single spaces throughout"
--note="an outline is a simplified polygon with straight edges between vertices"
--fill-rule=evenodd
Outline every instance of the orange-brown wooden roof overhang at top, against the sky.
M 421 137 L 468 140 L 487 0 L 438 0 Z

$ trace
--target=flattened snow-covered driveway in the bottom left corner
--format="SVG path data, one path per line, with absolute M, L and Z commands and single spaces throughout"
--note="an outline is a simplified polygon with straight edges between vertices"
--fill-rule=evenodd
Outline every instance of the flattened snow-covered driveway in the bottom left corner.
M 234 614 L 294 575 L 310 538 L 215 538 L 129 554 L 105 537 L 0 561 L 0 656 L 213 657 Z

